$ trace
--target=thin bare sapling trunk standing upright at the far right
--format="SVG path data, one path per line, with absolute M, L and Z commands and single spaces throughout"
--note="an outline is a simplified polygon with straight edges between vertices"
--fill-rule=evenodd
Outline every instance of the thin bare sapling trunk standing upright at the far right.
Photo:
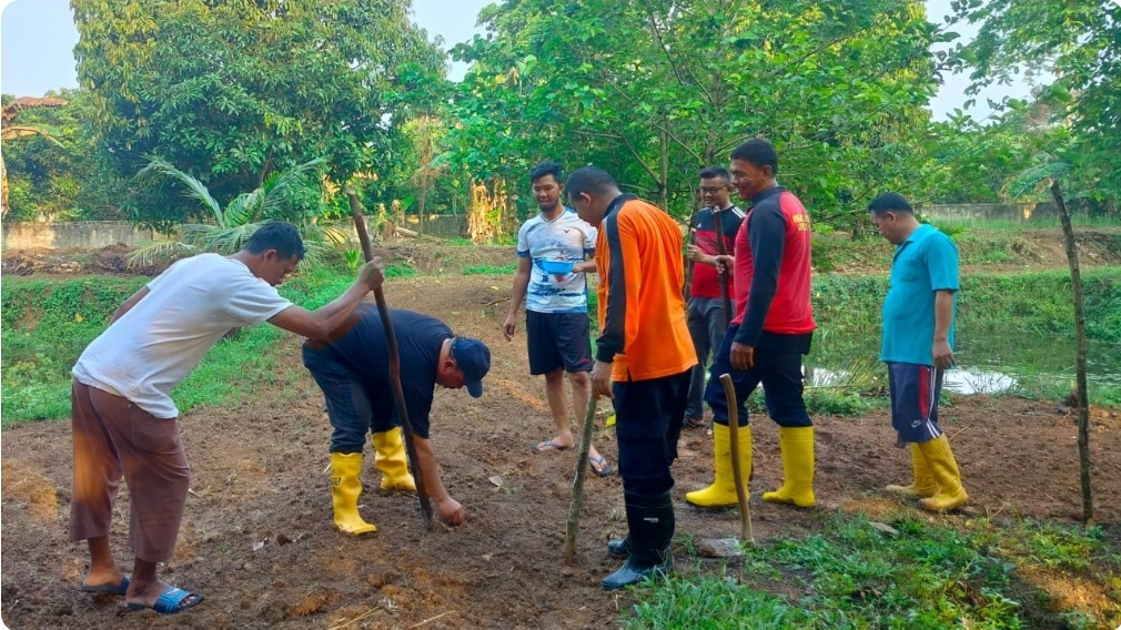
M 1071 214 L 1063 201 L 1058 179 L 1051 179 L 1051 197 L 1058 206 L 1066 241 L 1066 260 L 1071 263 L 1071 293 L 1074 294 L 1074 369 L 1078 381 L 1078 464 L 1082 478 L 1082 524 L 1094 522 L 1094 498 L 1090 485 L 1090 400 L 1086 395 L 1086 313 L 1082 298 L 1082 274 L 1078 271 L 1078 252 L 1075 251 Z

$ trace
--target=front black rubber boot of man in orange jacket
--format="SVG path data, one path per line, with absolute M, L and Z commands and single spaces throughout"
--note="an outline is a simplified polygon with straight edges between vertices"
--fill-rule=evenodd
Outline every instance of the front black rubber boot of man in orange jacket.
M 603 578 L 604 591 L 638 584 L 654 573 L 671 573 L 674 556 L 669 543 L 674 539 L 674 503 L 669 493 L 627 493 L 627 525 L 630 534 L 630 556 L 623 566 Z

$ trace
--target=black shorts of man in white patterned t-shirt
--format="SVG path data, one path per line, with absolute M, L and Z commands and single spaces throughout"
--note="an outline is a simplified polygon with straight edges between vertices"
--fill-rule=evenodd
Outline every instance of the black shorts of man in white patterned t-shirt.
M 587 313 L 526 312 L 529 373 L 592 371 L 592 339 Z

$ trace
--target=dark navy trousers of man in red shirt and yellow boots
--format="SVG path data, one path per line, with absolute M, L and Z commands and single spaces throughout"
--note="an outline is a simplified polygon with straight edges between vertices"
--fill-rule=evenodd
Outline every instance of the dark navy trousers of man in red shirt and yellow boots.
M 763 383 L 767 414 L 778 426 L 788 428 L 814 426 L 802 398 L 802 355 L 809 352 L 813 333 L 779 335 L 765 332 L 756 348 L 754 365 L 750 370 L 735 370 L 732 368 L 731 355 L 732 342 L 739 330 L 739 325 L 728 327 L 724 343 L 720 345 L 720 352 L 712 363 L 704 400 L 712 408 L 713 421 L 728 425 L 728 397 L 724 396 L 724 387 L 720 382 L 720 376 L 726 373 L 732 377 L 732 385 L 735 388 L 739 426 L 748 426 L 748 397 L 760 382 Z

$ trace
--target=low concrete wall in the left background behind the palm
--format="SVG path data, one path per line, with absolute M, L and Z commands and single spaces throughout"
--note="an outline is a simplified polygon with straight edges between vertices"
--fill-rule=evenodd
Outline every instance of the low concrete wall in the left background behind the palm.
M 353 224 L 350 226 L 354 242 Z M 434 214 L 425 217 L 424 228 L 416 216 L 406 216 L 402 228 L 420 231 L 429 237 L 455 239 L 467 232 L 467 219 L 463 215 Z M 147 241 L 161 238 L 152 230 L 140 230 L 127 221 L 71 221 L 61 223 L 4 223 L 3 251 L 22 251 L 29 249 L 84 249 L 95 250 L 123 243 L 136 247 Z

